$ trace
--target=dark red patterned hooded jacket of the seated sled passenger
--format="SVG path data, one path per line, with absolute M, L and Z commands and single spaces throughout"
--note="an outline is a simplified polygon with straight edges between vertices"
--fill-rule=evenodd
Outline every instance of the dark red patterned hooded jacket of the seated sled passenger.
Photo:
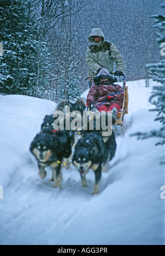
M 108 80 L 102 83 L 101 79 Z M 123 88 L 119 84 L 113 84 L 114 81 L 116 80 L 113 79 L 108 70 L 106 68 L 101 68 L 100 72 L 98 72 L 98 74 L 93 78 L 93 84 L 87 95 L 86 102 L 90 101 L 94 105 L 93 107 L 98 107 L 101 104 L 107 106 L 117 104 L 122 108 L 124 91 L 122 91 Z M 119 93 L 112 95 L 114 98 L 107 99 L 107 95 L 113 94 L 114 92 Z

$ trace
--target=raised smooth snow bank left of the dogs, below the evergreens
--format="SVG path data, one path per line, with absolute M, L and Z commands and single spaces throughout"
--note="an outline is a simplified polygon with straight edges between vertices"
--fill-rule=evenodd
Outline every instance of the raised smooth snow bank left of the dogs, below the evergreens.
M 55 105 L 28 96 L 0 96 L 0 184 L 3 188 L 10 184 L 18 166 L 28 160 L 29 145 L 40 131 L 43 118 L 54 111 Z

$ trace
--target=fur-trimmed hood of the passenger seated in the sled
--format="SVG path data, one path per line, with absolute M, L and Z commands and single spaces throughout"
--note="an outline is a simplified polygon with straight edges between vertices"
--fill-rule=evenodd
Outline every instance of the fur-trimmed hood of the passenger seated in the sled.
M 101 79 L 108 79 L 106 83 L 102 83 Z M 100 84 L 113 84 L 117 81 L 116 78 L 113 78 L 113 76 L 109 73 L 107 68 L 101 68 L 97 75 L 93 78 L 93 83 L 97 86 Z

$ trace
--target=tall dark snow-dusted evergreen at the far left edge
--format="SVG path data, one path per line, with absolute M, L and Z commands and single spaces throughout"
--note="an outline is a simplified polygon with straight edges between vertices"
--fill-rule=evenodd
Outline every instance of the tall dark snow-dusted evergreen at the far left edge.
M 28 85 L 29 73 L 27 56 L 27 8 L 23 1 L 1 1 L 1 42 L 3 56 L 0 58 L 0 91 L 6 94 L 24 93 Z

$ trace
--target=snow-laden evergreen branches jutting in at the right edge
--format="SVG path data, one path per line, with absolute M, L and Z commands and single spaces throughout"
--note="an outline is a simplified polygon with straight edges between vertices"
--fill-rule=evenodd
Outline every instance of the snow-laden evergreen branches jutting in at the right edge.
M 162 7 L 165 8 L 165 5 Z M 157 33 L 156 43 L 161 45 L 165 42 L 165 17 L 163 15 L 154 15 L 155 18 L 155 28 L 159 30 Z M 151 132 L 146 133 L 136 133 L 139 139 L 147 139 L 150 137 L 158 137 L 161 140 L 156 143 L 156 145 L 165 144 L 165 59 L 162 59 L 158 63 L 148 64 L 147 68 L 150 71 L 150 76 L 154 81 L 160 83 L 153 87 L 152 95 L 150 97 L 150 102 L 155 105 L 155 108 L 151 111 L 157 111 L 157 117 L 155 121 L 160 121 L 162 126 L 157 130 L 151 130 Z

